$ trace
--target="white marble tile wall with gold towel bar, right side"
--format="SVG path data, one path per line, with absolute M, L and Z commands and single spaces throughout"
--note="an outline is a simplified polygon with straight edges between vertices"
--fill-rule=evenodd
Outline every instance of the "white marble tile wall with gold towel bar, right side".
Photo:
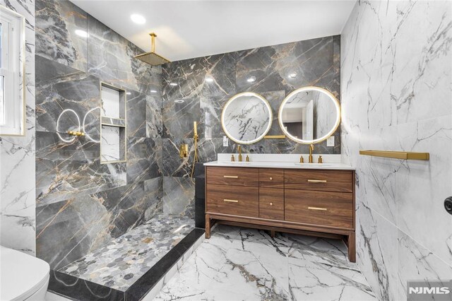
M 357 167 L 357 261 L 379 300 L 451 279 L 451 41 L 450 1 L 359 1 L 341 35 L 342 158 Z

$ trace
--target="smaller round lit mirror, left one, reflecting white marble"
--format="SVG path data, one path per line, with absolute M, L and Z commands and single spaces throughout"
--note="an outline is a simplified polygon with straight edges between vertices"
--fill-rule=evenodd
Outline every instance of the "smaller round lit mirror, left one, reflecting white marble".
M 234 142 L 256 143 L 266 136 L 272 121 L 271 107 L 261 95 L 251 92 L 234 95 L 221 114 L 225 134 Z

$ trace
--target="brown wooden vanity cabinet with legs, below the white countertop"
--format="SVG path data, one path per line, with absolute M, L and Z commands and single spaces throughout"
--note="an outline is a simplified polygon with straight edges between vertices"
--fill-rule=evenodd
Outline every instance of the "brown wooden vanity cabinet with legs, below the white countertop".
M 213 223 L 342 238 L 355 262 L 355 171 L 206 166 Z

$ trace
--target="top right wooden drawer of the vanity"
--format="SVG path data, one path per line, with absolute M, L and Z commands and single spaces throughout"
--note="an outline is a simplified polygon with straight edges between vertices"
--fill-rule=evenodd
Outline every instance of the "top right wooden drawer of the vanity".
M 336 170 L 285 170 L 285 189 L 352 192 L 352 175 Z

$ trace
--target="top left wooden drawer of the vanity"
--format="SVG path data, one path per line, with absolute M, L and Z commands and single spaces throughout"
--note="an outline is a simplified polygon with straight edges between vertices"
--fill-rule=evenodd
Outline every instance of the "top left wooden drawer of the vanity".
M 259 170 L 240 167 L 207 167 L 207 184 L 259 186 Z

